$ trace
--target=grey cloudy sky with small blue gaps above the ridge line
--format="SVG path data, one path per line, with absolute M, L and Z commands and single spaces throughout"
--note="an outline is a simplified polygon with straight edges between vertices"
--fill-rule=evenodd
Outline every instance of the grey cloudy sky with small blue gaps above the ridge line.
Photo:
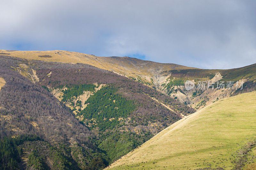
M 255 9 L 255 0 L 1 0 L 0 49 L 243 67 L 256 63 Z

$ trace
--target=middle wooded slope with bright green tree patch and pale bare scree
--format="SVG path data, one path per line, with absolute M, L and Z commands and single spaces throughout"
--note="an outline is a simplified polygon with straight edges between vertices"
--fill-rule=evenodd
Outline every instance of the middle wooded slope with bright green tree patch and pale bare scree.
M 52 92 L 63 93 L 58 96 L 60 102 L 97 134 L 100 149 L 107 151 L 111 161 L 144 143 L 183 114 L 194 112 L 139 82 L 96 67 L 39 61 L 33 67 L 39 77 L 37 83 Z M 95 86 L 98 90 L 79 90 L 83 85 Z M 79 91 L 81 95 L 76 94 Z

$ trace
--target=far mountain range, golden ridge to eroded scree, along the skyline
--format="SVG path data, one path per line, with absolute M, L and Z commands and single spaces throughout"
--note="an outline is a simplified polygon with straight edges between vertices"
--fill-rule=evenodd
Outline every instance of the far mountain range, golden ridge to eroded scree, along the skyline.
M 198 110 L 222 98 L 256 90 L 256 64 L 228 70 L 198 69 L 177 64 L 157 63 L 130 57 L 98 57 L 94 55 L 54 51 L 14 51 L 0 50 L 0 54 L 28 60 L 54 61 L 61 63 L 84 63 L 141 82 L 161 93 L 179 100 Z M 185 81 L 193 81 L 196 86 L 204 81 L 244 81 L 243 89 L 197 89 L 184 88 Z

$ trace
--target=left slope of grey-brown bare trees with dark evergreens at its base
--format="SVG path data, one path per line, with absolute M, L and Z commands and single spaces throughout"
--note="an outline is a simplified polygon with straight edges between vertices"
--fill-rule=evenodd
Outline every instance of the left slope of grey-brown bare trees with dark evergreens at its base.
M 50 92 L 14 71 L 19 64 L 24 63 L 1 56 L 0 76 L 6 83 L 0 90 L 0 169 L 108 165 L 93 142 L 95 134 Z

